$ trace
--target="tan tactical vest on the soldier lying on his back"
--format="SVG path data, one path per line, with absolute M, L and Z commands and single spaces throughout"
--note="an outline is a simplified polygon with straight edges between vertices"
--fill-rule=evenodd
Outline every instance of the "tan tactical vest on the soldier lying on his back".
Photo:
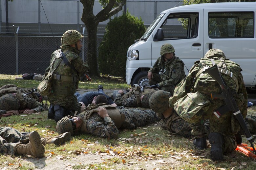
M 94 112 L 98 112 L 98 107 L 102 107 L 107 110 L 109 117 L 113 120 L 117 128 L 120 128 L 122 126 L 122 123 L 124 122 L 125 117 L 123 114 L 120 114 L 120 112 L 117 110 L 116 107 L 112 105 L 106 105 L 106 103 L 102 103 L 98 105 L 91 104 L 84 109 L 85 111 L 79 114 L 79 116 L 84 115 L 84 118 L 83 118 L 84 126 L 81 127 L 80 129 L 81 132 L 90 133 L 86 128 L 86 124 L 88 119 L 91 117 L 91 115 Z

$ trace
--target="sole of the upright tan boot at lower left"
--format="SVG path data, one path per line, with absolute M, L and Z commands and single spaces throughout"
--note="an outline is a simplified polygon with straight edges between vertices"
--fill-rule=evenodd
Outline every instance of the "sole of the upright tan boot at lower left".
M 35 157 L 42 158 L 44 156 L 45 149 L 44 146 L 41 144 L 41 137 L 37 131 L 32 131 L 29 134 L 29 141 L 32 145 L 32 148 L 35 149 L 33 150 L 33 152 L 35 153 Z

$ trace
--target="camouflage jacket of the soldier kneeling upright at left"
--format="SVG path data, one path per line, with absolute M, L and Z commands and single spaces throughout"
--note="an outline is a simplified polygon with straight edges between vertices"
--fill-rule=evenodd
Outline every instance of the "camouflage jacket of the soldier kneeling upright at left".
M 68 61 L 75 67 L 78 73 L 75 72 L 72 68 L 67 66 L 64 61 L 62 60 L 59 66 L 56 68 L 53 74 L 66 76 L 66 77 L 76 77 L 76 81 L 68 81 L 62 78 L 60 80 L 54 79 L 52 80 L 52 94 L 48 95 L 49 99 L 58 100 L 58 98 L 64 98 L 68 95 L 74 95 L 75 90 L 78 88 L 79 82 L 79 74 L 83 75 L 89 69 L 87 63 L 85 63 L 79 56 L 79 51 L 76 50 L 74 47 L 70 46 L 61 46 L 62 52 L 65 54 Z M 55 57 L 59 56 L 58 50 L 54 51 L 51 56 L 51 63 L 54 61 Z M 53 64 L 52 70 L 56 67 L 57 61 L 56 59 Z M 45 73 L 50 71 L 50 66 L 45 70 Z

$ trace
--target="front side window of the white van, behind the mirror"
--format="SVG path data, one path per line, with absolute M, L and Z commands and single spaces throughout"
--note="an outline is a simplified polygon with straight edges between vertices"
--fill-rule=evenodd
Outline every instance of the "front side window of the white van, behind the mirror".
M 172 13 L 163 22 L 163 39 L 196 38 L 199 13 Z

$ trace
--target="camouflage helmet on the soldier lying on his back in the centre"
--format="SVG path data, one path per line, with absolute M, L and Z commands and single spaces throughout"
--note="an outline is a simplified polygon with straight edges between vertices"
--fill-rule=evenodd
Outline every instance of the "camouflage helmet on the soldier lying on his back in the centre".
M 63 117 L 61 120 L 58 121 L 56 129 L 57 129 L 58 134 L 62 134 L 65 132 L 70 132 L 71 135 L 74 134 L 73 126 L 72 126 L 72 123 L 70 122 L 68 116 Z

